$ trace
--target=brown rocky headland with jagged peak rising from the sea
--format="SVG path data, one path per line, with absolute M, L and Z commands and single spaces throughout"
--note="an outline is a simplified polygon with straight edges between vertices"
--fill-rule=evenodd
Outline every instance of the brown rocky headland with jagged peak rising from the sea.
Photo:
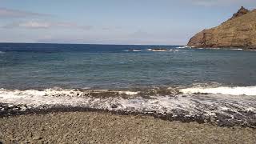
M 241 8 L 220 26 L 202 30 L 190 38 L 193 47 L 241 47 L 256 49 L 256 10 Z

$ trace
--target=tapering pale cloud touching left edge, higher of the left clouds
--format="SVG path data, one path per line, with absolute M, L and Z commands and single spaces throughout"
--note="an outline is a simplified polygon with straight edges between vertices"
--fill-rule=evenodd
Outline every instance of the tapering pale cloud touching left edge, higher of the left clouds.
M 39 14 L 30 11 L 12 10 L 0 7 L 0 18 L 26 18 L 26 17 L 46 17 L 50 14 Z

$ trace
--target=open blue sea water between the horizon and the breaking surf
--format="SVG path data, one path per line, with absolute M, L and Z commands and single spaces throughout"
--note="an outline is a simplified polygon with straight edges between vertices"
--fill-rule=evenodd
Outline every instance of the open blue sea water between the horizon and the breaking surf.
M 170 51 L 147 50 L 157 47 Z M 256 51 L 0 43 L 0 88 L 5 89 L 122 89 L 212 82 L 256 86 Z

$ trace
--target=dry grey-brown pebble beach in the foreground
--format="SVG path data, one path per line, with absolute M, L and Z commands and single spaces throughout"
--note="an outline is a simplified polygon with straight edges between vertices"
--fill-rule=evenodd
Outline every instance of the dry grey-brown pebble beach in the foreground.
M 142 115 L 57 112 L 0 118 L 3 143 L 256 143 L 256 130 Z

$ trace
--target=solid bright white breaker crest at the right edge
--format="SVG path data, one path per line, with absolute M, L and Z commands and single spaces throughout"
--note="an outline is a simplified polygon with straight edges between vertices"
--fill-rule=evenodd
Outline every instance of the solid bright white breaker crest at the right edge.
M 210 93 L 230 95 L 256 95 L 256 86 L 191 87 L 180 90 L 183 94 Z

